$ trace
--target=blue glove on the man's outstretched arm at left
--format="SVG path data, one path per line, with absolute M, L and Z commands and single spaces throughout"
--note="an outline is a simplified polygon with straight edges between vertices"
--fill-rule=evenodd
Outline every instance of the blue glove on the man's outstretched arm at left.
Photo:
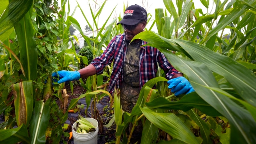
M 52 77 L 58 77 L 57 73 L 60 76 L 59 77 L 60 80 L 58 81 L 59 84 L 80 79 L 80 73 L 78 71 L 61 70 L 61 71 L 54 72 L 52 74 Z

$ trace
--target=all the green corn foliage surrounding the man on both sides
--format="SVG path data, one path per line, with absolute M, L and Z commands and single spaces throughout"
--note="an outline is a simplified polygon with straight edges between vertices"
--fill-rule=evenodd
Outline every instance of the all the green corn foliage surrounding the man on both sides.
M 172 0 L 163 1 L 166 11 L 156 9 L 158 34 L 145 31 L 135 38 L 163 52 L 190 80 L 196 92 L 174 97 L 167 89 L 164 73 L 159 70 L 158 77 L 143 86 L 131 113 L 120 111 L 115 95 L 116 143 L 122 141 L 125 127 L 130 123 L 135 126 L 138 120 L 143 122 L 143 143 L 255 143 L 256 1 L 214 0 L 213 14 L 196 8 L 193 1 L 176 1 L 176 6 Z M 210 1 L 200 1 L 211 9 Z M 63 136 L 67 137 L 61 126 L 68 117 L 64 110 L 67 106 L 56 102 L 64 103 L 64 84 L 53 82 L 52 85 L 52 72 L 74 70 L 69 67 L 74 57 L 81 63 L 90 62 L 101 54 L 102 47 L 113 36 L 123 32 L 120 25 L 115 25 L 117 18 L 106 26 L 110 16 L 99 28 L 97 19 L 106 4 L 104 1 L 99 5 L 94 3 L 99 10 L 91 13 L 93 23 L 87 21 L 88 15 L 84 15 L 78 4 L 87 21 L 85 29 L 96 32 L 91 37 L 84 36 L 77 20 L 69 12 L 65 13 L 67 2 L 60 9 L 57 1 L 50 0 L 34 3 L 4 0 L 0 6 L 0 12 L 4 12 L 0 18 L 0 114 L 5 118 L 0 124 L 0 143 L 60 143 Z M 17 8 L 7 8 L 8 5 Z M 9 19 L 12 16 L 15 18 Z M 86 48 L 79 54 L 73 43 L 67 49 L 71 38 L 77 40 L 72 36 L 73 27 L 85 39 Z M 109 77 L 111 69 L 111 65 L 105 68 L 104 76 Z M 106 86 L 102 86 L 103 76 L 90 76 L 86 84 L 82 79 L 80 82 L 87 93 L 71 100 L 67 110 L 83 108 L 77 102 L 85 98 L 87 111 L 93 98 L 92 116 L 97 119 L 96 102 L 106 95 L 111 98 L 112 110 L 112 97 Z M 152 89 L 155 84 L 157 89 Z M 14 95 L 20 98 L 30 95 L 33 100 L 14 99 Z M 29 107 L 26 112 L 19 107 L 21 102 Z M 19 121 L 19 114 L 26 116 L 24 124 Z M 112 124 L 113 120 L 108 126 Z M 129 137 L 123 138 L 122 143 L 129 141 Z

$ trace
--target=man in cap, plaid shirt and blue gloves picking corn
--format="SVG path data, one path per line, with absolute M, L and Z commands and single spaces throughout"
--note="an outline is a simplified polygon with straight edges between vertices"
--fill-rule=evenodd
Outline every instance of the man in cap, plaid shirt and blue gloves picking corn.
M 124 33 L 115 36 L 102 55 L 78 71 L 59 71 L 58 83 L 102 74 L 103 68 L 114 60 L 108 91 L 112 94 L 115 88 L 120 89 L 120 102 L 124 111 L 132 111 L 142 86 L 156 77 L 158 64 L 164 70 L 166 78 L 169 79 L 169 88 L 176 96 L 194 91 L 188 80 L 172 67 L 158 49 L 142 46 L 146 42 L 140 39 L 131 42 L 132 38 L 146 27 L 147 12 L 143 7 L 136 4 L 127 7 L 123 19 L 118 24 L 122 24 Z M 57 74 L 53 73 L 52 76 L 57 77 Z M 138 137 L 140 138 L 140 135 Z M 135 137 L 134 139 L 136 140 Z

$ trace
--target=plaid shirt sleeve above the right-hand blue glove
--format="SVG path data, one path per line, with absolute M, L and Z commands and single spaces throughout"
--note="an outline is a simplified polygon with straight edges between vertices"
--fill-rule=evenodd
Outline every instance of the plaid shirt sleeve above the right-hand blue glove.
M 172 76 L 176 74 L 182 74 L 177 69 L 173 68 L 173 66 L 169 63 L 169 61 L 166 59 L 164 54 L 158 50 L 158 56 L 157 60 L 159 63 L 159 67 L 162 68 L 165 72 L 166 78 L 168 80 L 172 79 Z

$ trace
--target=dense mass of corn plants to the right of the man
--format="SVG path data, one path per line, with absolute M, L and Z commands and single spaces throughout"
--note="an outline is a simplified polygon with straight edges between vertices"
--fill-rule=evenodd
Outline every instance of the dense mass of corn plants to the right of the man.
M 209 14 L 190 0 L 176 1 L 178 9 L 171 0 L 163 1 L 166 11 L 156 9 L 158 33 L 144 31 L 134 39 L 163 52 L 196 92 L 174 97 L 164 87 L 152 89 L 167 79 L 149 80 L 117 134 L 141 119 L 141 143 L 255 143 L 256 2 L 216 0 Z M 209 1 L 201 2 L 209 8 Z M 226 30 L 230 34 L 223 36 Z

